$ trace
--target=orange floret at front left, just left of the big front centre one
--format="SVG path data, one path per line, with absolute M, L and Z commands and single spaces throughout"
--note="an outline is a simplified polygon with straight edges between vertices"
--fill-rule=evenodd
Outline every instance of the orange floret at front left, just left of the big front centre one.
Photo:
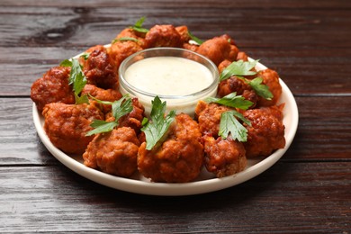
M 139 145 L 135 131 L 127 127 L 97 134 L 83 154 L 84 164 L 107 174 L 130 177 L 137 171 Z

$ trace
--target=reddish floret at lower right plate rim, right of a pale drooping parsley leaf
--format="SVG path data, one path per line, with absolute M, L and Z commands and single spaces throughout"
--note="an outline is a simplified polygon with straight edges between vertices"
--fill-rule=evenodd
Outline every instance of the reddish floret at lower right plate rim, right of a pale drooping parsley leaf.
M 247 142 L 244 147 L 247 157 L 267 157 L 278 148 L 284 148 L 284 105 L 262 107 L 247 110 L 243 113 L 251 127 L 244 123 L 247 128 Z

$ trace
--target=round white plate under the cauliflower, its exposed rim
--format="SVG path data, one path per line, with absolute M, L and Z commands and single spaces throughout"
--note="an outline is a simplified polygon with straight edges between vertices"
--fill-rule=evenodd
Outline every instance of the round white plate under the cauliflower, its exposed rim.
M 257 64 L 257 69 L 265 69 L 266 67 L 262 64 Z M 84 176 L 98 184 L 103 184 L 115 189 L 127 191 L 130 193 L 141 193 L 151 195 L 190 195 L 209 193 L 218 191 L 220 189 L 228 188 L 230 186 L 243 183 L 262 172 L 266 171 L 270 166 L 273 166 L 276 161 L 281 158 L 285 151 L 290 147 L 295 132 L 297 130 L 299 113 L 297 104 L 293 97 L 292 92 L 285 83 L 280 80 L 283 88 L 283 94 L 281 96 L 280 103 L 285 103 L 284 106 L 284 125 L 285 125 L 285 148 L 276 150 L 272 155 L 266 158 L 248 159 L 247 168 L 235 175 L 229 175 L 223 178 L 214 178 L 213 175 L 202 170 L 199 178 L 190 183 L 180 184 L 167 184 L 167 183 L 152 183 L 142 175 L 135 175 L 132 178 L 122 178 L 115 175 L 108 175 L 101 171 L 92 169 L 83 164 L 82 157 L 70 157 L 58 148 L 56 148 L 45 131 L 43 130 L 44 119 L 42 115 L 37 111 L 35 103 L 32 106 L 33 121 L 35 128 L 38 131 L 38 135 L 48 148 L 49 152 L 58 159 L 62 164 L 67 166 L 69 169 L 75 171 L 77 174 Z

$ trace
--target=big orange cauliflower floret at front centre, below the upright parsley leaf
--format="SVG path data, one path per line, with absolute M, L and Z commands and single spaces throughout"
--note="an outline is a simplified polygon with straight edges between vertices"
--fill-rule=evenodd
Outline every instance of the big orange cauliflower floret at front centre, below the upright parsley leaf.
M 196 121 L 184 113 L 175 117 L 166 141 L 159 148 L 138 153 L 139 172 L 153 182 L 184 183 L 193 181 L 202 169 L 202 134 Z

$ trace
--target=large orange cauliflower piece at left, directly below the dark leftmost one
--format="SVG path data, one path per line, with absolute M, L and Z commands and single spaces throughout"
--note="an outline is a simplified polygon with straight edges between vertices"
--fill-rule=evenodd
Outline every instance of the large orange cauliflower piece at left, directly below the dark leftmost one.
M 86 137 L 94 120 L 103 120 L 103 112 L 94 104 L 46 104 L 42 115 L 44 130 L 54 146 L 67 154 L 83 154 L 94 137 Z

